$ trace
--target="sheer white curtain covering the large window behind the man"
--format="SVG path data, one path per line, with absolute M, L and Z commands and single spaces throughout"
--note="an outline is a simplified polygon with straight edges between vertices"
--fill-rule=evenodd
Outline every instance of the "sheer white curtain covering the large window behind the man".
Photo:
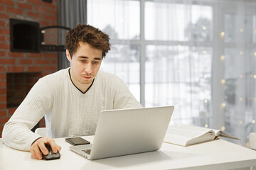
M 88 0 L 87 21 L 112 38 L 102 70 L 171 124 L 256 132 L 256 1 Z

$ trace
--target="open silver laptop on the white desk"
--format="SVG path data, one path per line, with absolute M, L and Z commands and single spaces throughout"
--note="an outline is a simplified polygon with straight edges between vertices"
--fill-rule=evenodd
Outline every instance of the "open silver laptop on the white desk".
M 70 149 L 91 160 L 156 151 L 173 111 L 174 106 L 101 111 L 93 145 Z

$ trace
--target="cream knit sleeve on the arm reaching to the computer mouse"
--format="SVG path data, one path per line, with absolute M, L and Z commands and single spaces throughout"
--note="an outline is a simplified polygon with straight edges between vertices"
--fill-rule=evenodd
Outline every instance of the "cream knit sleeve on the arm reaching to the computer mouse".
M 2 134 L 4 144 L 14 149 L 28 151 L 32 142 L 40 137 L 31 129 L 50 111 L 52 101 L 48 84 L 43 79 L 39 79 L 4 125 Z

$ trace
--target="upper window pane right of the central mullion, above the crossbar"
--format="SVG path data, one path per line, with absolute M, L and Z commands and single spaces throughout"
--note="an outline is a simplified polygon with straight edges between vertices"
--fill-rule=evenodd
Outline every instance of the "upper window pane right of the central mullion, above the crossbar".
M 194 41 L 210 41 L 212 16 L 211 6 L 146 1 L 145 39 L 188 41 L 193 33 Z

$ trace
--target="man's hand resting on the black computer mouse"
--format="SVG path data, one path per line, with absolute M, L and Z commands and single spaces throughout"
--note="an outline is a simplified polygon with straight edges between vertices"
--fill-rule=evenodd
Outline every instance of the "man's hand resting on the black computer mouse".
M 44 155 L 48 154 L 48 149 L 46 149 L 46 144 L 49 144 L 53 150 L 53 153 L 56 153 L 57 150 L 60 152 L 61 147 L 55 143 L 55 141 L 50 137 L 41 137 L 31 145 L 30 152 L 35 159 L 42 159 L 41 151 Z

